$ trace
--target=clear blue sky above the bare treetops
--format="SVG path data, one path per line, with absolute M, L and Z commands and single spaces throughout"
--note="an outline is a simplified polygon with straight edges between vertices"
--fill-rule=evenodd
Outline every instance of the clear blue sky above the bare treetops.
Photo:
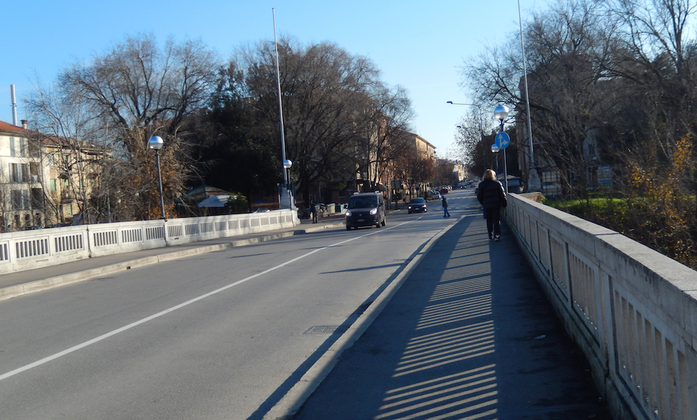
M 545 4 L 520 0 L 523 20 Z M 227 59 L 235 47 L 273 40 L 272 8 L 278 36 L 337 43 L 372 59 L 384 82 L 405 87 L 418 114 L 414 132 L 434 144 L 438 156 L 452 148 L 468 111 L 446 101 L 471 101 L 459 87 L 459 66 L 519 31 L 517 0 L 14 1 L 3 7 L 0 120 L 12 122 L 10 84 L 17 117 L 24 119 L 22 98 L 37 77 L 51 84 L 66 66 L 137 33 L 154 33 L 159 43 L 167 36 L 201 39 Z

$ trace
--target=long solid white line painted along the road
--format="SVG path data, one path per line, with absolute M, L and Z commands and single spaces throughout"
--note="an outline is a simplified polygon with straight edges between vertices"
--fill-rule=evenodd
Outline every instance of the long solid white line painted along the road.
M 420 218 L 417 218 L 417 219 L 414 219 L 414 220 L 419 220 L 419 219 L 420 219 Z M 271 271 L 277 270 L 277 269 L 279 269 L 279 268 L 281 268 L 281 267 L 285 267 L 285 266 L 288 265 L 288 264 L 292 264 L 293 262 L 296 262 L 296 261 L 298 261 L 298 260 L 302 260 L 302 258 L 309 257 L 309 255 L 312 255 L 312 254 L 314 254 L 314 253 L 319 253 L 319 251 L 321 251 L 321 250 L 325 250 L 325 249 L 328 249 L 328 248 L 332 248 L 333 246 L 339 246 L 339 245 L 342 245 L 343 243 L 355 241 L 356 239 L 361 239 L 361 238 L 369 237 L 370 235 L 373 235 L 373 234 L 377 234 L 377 233 L 380 233 L 380 232 L 385 232 L 385 230 L 395 229 L 395 227 L 399 227 L 399 226 L 401 226 L 401 225 L 406 225 L 406 223 L 411 223 L 411 222 L 413 222 L 414 220 L 408 220 L 408 221 L 406 221 L 406 222 L 404 222 L 404 223 L 399 223 L 399 225 L 395 225 L 395 226 L 392 226 L 392 227 L 386 227 L 385 229 L 376 230 L 376 231 L 370 232 L 370 233 L 368 233 L 368 234 L 360 235 L 360 236 L 358 236 L 358 237 L 354 237 L 354 238 L 351 238 L 351 239 L 346 239 L 346 240 L 344 240 L 344 241 L 340 241 L 340 242 L 337 242 L 337 243 L 332 243 L 332 245 L 324 246 L 324 247 L 322 247 L 322 248 L 317 248 L 316 250 L 312 250 L 312 251 L 310 251 L 309 253 L 300 255 L 300 257 L 295 257 L 295 258 L 293 258 L 292 260 L 286 261 L 286 262 L 284 262 L 284 263 L 282 263 L 282 264 L 278 264 L 276 267 L 271 267 L 270 269 L 261 271 L 261 273 L 256 273 L 256 274 L 254 274 L 254 275 L 252 275 L 252 276 L 249 276 L 249 277 L 247 277 L 247 278 L 243 278 L 242 280 L 238 280 L 238 281 L 236 281 L 235 283 L 230 283 L 230 284 L 227 285 L 227 286 L 220 287 L 220 289 L 213 290 L 213 292 L 208 292 L 208 293 L 206 293 L 206 294 L 201 294 L 201 296 L 199 296 L 199 297 L 194 297 L 194 299 L 191 299 L 191 300 L 189 300 L 189 301 L 185 301 L 184 303 L 179 303 L 178 305 L 172 306 L 172 307 L 169 308 L 169 309 L 165 309 L 165 310 L 163 310 L 162 312 L 158 312 L 158 313 L 155 313 L 154 315 L 150 315 L 149 317 L 145 317 L 145 318 L 143 318 L 142 320 L 138 320 L 138 321 L 136 321 L 136 322 L 132 322 L 131 324 L 128 324 L 128 325 L 125 325 L 125 326 L 123 326 L 123 327 L 121 327 L 121 328 L 115 329 L 114 331 L 109 331 L 108 333 L 102 334 L 101 336 L 92 338 L 91 340 L 87 340 L 87 341 L 85 341 L 84 343 L 80 343 L 80 344 L 75 345 L 75 346 L 73 346 L 73 347 L 70 347 L 70 348 L 68 348 L 68 349 L 66 349 L 66 350 L 63 350 L 62 352 L 58 352 L 58 353 L 56 353 L 56 354 L 52 354 L 52 355 L 50 355 L 49 357 L 45 357 L 45 358 L 40 359 L 40 360 L 37 360 L 37 361 L 35 361 L 35 362 L 33 362 L 33 363 L 29 363 L 28 365 L 24 365 L 24 366 L 22 366 L 21 368 L 17 368 L 17 369 L 15 369 L 15 370 L 10 370 L 8 373 L 3 373 L 2 375 L 0 375 L 0 381 L 6 380 L 8 377 L 13 377 L 13 376 L 15 376 L 15 375 L 17 375 L 17 374 L 19 374 L 19 373 L 22 373 L 22 372 L 24 372 L 24 371 L 26 371 L 26 370 L 29 370 L 29 369 L 32 369 L 32 368 L 36 368 L 37 366 L 41 366 L 41 365 L 43 365 L 44 363 L 48 363 L 49 361 L 52 361 L 52 360 L 55 360 L 55 359 L 59 359 L 59 357 L 66 356 L 67 354 L 70 354 L 70 353 L 72 353 L 72 352 L 77 352 L 77 350 L 84 349 L 85 347 L 88 347 L 88 346 L 93 345 L 93 344 L 95 344 L 95 343 L 99 343 L 100 341 L 106 340 L 107 338 L 109 338 L 109 337 L 111 337 L 111 336 L 115 336 L 115 335 L 118 334 L 118 333 L 122 333 L 123 331 L 127 331 L 127 330 L 129 330 L 129 329 L 132 329 L 132 328 L 134 328 L 134 327 L 137 327 L 137 326 L 139 326 L 140 324 L 145 324 L 146 322 L 152 321 L 152 320 L 154 320 L 155 318 L 159 318 L 159 317 L 161 317 L 161 316 L 163 316 L 163 315 L 167 315 L 168 313 L 174 312 L 174 311 L 177 310 L 177 309 L 181 309 L 181 308 L 183 308 L 183 307 L 185 307 L 185 306 L 188 306 L 188 305 L 190 305 L 190 304 L 192 304 L 192 303 L 194 303 L 194 302 L 200 301 L 201 299 L 206 299 L 207 297 L 213 296 L 214 294 L 223 292 L 224 290 L 228 290 L 228 289 L 231 288 L 231 287 L 235 287 L 235 286 L 237 286 L 237 285 L 241 285 L 242 283 L 245 283 L 245 282 L 247 282 L 247 281 L 249 281 L 249 280 L 252 280 L 252 279 L 257 278 L 257 277 L 259 277 L 259 276 L 263 276 L 264 274 L 268 274 L 268 273 L 270 273 Z

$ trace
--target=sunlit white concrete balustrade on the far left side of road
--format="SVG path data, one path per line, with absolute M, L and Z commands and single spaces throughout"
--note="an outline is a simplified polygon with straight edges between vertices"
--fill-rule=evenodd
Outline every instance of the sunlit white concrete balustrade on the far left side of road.
M 0 274 L 298 225 L 295 211 L 105 223 L 0 234 Z

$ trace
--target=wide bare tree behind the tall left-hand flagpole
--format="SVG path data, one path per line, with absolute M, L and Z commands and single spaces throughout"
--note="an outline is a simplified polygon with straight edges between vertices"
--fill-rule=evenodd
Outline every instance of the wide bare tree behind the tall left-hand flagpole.
M 385 89 L 372 61 L 335 44 L 301 46 L 282 38 L 278 50 L 286 156 L 293 160 L 298 188 L 309 197 L 323 183 L 355 179 L 355 153 L 369 153 L 365 146 L 374 136 L 385 144 L 390 124 L 399 126 L 406 117 L 407 103 L 403 91 Z M 273 44 L 240 50 L 237 61 L 260 128 L 279 138 Z

